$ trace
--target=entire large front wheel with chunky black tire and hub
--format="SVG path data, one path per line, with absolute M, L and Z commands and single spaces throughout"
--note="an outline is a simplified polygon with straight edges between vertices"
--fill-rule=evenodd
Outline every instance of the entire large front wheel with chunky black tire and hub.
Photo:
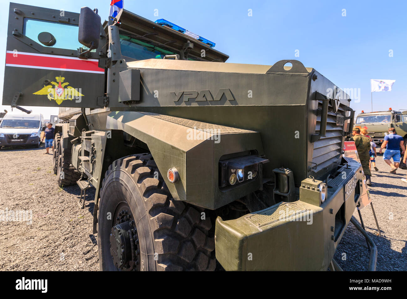
M 100 269 L 213 271 L 214 234 L 202 211 L 171 197 L 151 154 L 114 161 L 99 202 Z

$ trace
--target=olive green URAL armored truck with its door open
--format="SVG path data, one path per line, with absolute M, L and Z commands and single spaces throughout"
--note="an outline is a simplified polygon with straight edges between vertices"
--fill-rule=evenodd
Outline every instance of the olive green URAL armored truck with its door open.
M 54 170 L 96 188 L 80 205 L 101 270 L 335 266 L 362 197 L 350 98 L 299 61 L 226 63 L 187 33 L 10 4 L 3 105 L 60 107 Z

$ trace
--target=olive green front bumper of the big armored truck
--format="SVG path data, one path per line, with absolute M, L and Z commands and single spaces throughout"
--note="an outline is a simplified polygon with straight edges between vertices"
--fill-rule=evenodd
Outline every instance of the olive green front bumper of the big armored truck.
M 328 179 L 327 199 L 321 205 L 303 196 L 234 220 L 218 217 L 217 260 L 228 271 L 326 270 L 363 190 L 359 163 L 349 163 L 347 179 L 342 177 Z M 352 178 L 357 183 L 346 198 L 345 186 Z

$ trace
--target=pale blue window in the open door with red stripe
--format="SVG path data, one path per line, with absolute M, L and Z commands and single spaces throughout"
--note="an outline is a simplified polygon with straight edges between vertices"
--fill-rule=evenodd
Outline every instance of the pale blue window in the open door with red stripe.
M 24 18 L 23 34 L 42 46 L 69 50 L 77 50 L 82 47 L 87 50 L 88 48 L 78 41 L 78 28 L 78 25 L 74 24 L 62 24 L 26 17 Z M 47 37 L 49 37 L 49 41 Z M 95 51 L 92 50 L 92 52 Z

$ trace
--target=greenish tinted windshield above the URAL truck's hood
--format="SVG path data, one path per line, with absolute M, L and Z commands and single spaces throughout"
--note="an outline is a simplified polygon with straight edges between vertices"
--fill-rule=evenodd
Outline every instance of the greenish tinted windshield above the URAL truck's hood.
M 165 55 L 174 55 L 175 52 L 166 50 L 164 47 L 148 44 L 139 39 L 120 34 L 120 46 L 122 55 L 134 58 L 136 60 L 158 58 L 162 59 Z

